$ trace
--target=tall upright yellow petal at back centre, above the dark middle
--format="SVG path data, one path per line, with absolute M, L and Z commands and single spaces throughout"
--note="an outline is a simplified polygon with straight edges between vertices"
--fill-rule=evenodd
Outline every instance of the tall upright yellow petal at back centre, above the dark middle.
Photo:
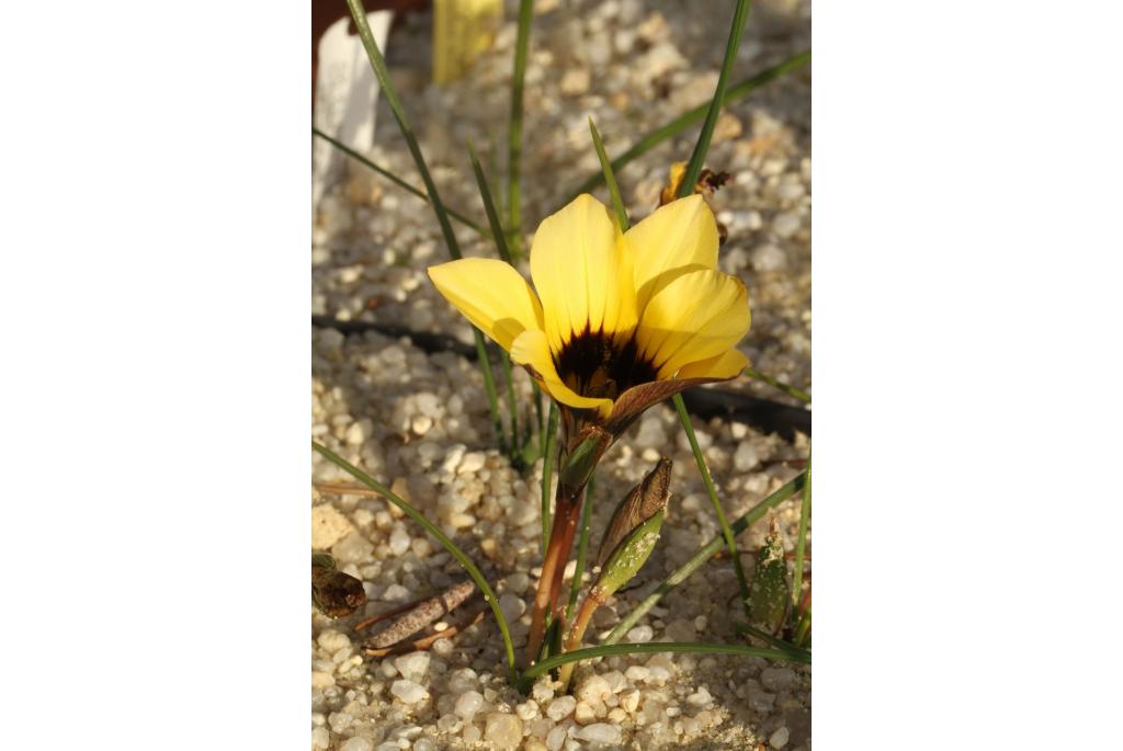
M 578 195 L 542 221 L 530 248 L 530 276 L 553 351 L 586 327 L 615 332 L 636 326 L 628 262 L 620 229 L 592 195 Z

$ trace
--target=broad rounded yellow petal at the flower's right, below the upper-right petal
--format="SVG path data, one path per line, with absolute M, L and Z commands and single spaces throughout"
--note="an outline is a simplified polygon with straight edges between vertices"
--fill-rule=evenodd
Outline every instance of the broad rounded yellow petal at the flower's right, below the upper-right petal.
M 636 336 L 659 378 L 732 349 L 749 330 L 749 295 L 741 280 L 709 269 L 669 274 L 674 278 L 659 284 Z

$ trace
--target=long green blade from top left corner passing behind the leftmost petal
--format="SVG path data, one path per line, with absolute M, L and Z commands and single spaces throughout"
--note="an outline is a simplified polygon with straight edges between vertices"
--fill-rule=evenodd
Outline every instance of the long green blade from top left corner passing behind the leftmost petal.
M 440 225 L 441 235 L 445 236 L 448 255 L 454 259 L 463 258 L 464 254 L 460 253 L 460 246 L 456 241 L 456 232 L 453 231 L 453 225 L 448 220 L 448 211 L 445 210 L 445 203 L 440 200 L 437 184 L 432 181 L 429 167 L 421 155 L 421 146 L 418 144 L 417 136 L 413 135 L 413 128 L 405 116 L 405 109 L 402 107 L 401 100 L 398 99 L 398 91 L 390 80 L 390 74 L 386 71 L 386 61 L 382 58 L 378 44 L 374 40 L 374 35 L 371 33 L 371 25 L 366 21 L 366 9 L 363 7 L 363 0 L 347 0 L 347 8 L 350 9 L 351 18 L 355 19 L 355 27 L 358 29 L 359 38 L 363 40 L 363 47 L 366 48 L 366 56 L 371 59 L 371 67 L 374 68 L 374 75 L 382 85 L 382 95 L 386 98 L 386 102 L 394 113 L 394 119 L 398 121 L 398 127 L 402 131 L 402 137 L 405 138 L 405 144 L 410 147 L 410 154 L 413 155 L 413 163 L 421 174 L 426 193 L 429 195 L 429 203 L 432 204 L 433 213 L 437 214 L 437 222 Z M 495 429 L 495 440 L 500 445 L 500 450 L 505 454 L 506 441 L 503 437 L 503 421 L 499 413 L 499 399 L 495 395 L 495 377 L 491 370 L 487 349 L 484 347 L 484 336 L 475 327 L 473 327 L 472 333 L 476 342 L 480 372 L 484 377 L 484 390 L 487 392 L 487 404 L 492 411 L 492 427 Z

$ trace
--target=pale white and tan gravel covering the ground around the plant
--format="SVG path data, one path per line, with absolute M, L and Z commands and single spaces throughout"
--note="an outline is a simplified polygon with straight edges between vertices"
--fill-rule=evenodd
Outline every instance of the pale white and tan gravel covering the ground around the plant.
M 482 219 L 460 145 L 485 152 L 505 130 L 514 3 L 494 49 L 469 79 L 445 90 L 426 85 L 430 19 L 412 16 L 394 30 L 391 75 L 419 131 L 446 202 Z M 564 192 L 596 170 L 586 118 L 610 153 L 713 91 L 729 3 L 705 0 L 539 0 L 527 72 L 523 214 L 529 232 Z M 754 3 L 738 62 L 740 80 L 810 47 L 810 2 Z M 810 74 L 769 84 L 723 115 L 710 166 L 732 173 L 718 193 L 729 229 L 720 264 L 749 286 L 752 328 L 742 349 L 755 367 L 800 387 L 811 376 Z M 384 102 L 381 104 L 384 107 Z M 448 117 L 448 113 L 456 117 Z M 380 164 L 420 182 L 389 111 L 378 118 Z M 496 126 L 496 122 L 500 125 Z M 633 217 L 655 205 L 672 161 L 688 156 L 694 131 L 619 174 Z M 501 164 L 501 163 L 500 163 Z M 544 177 L 547 176 L 547 177 Z M 599 191 L 602 200 L 603 189 Z M 458 229 L 466 255 L 494 255 Z M 446 258 L 428 207 L 353 168 L 325 198 L 313 235 L 313 312 L 405 326 L 471 342 L 468 324 L 431 289 L 424 267 Z M 483 568 L 526 639 L 528 605 L 540 569 L 541 462 L 520 475 L 493 448 L 476 367 L 450 352 L 427 355 L 408 340 L 375 333 L 312 338 L 312 434 L 391 484 L 435 520 Z M 520 392 L 529 381 L 518 374 Z M 724 388 L 785 401 L 740 379 Z M 700 443 L 725 512 L 734 518 L 791 479 L 784 460 L 806 456 L 803 436 L 785 441 L 737 422 L 696 421 Z M 663 538 L 634 586 L 597 613 L 587 643 L 611 629 L 656 584 L 718 532 L 677 418 L 655 407 L 613 448 L 597 474 L 593 512 L 603 528 L 621 494 L 666 455 L 675 462 Z M 350 483 L 313 456 L 314 482 Z M 794 543 L 797 505 L 780 506 Z M 394 506 L 377 497 L 313 491 L 313 548 L 360 578 L 369 602 L 350 620 L 312 614 L 313 749 L 810 749 L 810 669 L 755 658 L 636 654 L 578 667 L 575 695 L 539 679 L 528 696 L 506 686 L 502 642 L 491 616 L 426 653 L 364 658 L 350 625 L 360 616 L 429 596 L 464 579 L 459 566 Z M 758 524 L 740 538 L 763 539 Z M 743 561 L 751 566 L 752 556 Z M 633 626 L 628 641 L 727 641 L 737 580 L 728 557 L 711 561 Z M 701 745 L 700 745 L 701 744 Z

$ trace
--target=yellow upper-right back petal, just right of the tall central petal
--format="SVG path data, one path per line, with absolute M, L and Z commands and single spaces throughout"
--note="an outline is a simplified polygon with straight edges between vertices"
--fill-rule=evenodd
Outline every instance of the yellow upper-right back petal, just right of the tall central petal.
M 718 225 L 701 195 L 688 195 L 659 207 L 624 233 L 634 264 L 636 305 L 643 306 L 684 266 L 715 268 Z M 537 277 L 535 284 L 538 284 Z

